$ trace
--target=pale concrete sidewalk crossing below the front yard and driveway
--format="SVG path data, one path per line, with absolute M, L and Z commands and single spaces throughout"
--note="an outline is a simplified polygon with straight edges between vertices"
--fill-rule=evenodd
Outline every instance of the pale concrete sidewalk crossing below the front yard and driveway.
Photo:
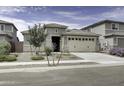
M 52 64 L 53 62 L 50 61 L 50 63 Z M 55 61 L 55 63 L 57 63 L 57 61 Z M 64 61 L 60 61 L 60 64 L 83 64 L 83 63 L 96 63 L 96 64 L 124 64 L 124 61 L 98 61 L 98 60 L 64 60 Z M 0 67 L 2 66 L 26 66 L 26 65 L 47 65 L 48 62 L 47 61 L 33 61 L 33 62 L 3 62 L 0 63 Z M 91 64 L 92 65 L 92 64 Z

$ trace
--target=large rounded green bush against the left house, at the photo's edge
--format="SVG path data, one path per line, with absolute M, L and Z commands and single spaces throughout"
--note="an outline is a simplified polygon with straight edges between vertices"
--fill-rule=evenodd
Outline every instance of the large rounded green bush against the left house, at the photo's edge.
M 0 55 L 8 55 L 11 50 L 11 45 L 10 43 L 6 41 L 1 41 L 0 42 Z

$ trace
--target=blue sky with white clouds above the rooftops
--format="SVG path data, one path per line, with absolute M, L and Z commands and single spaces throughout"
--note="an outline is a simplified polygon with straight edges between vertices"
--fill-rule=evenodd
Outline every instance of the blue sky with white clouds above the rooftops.
M 20 32 L 34 24 L 58 23 L 70 29 L 80 29 L 92 23 L 111 19 L 124 21 L 122 6 L 0 6 L 0 20 L 9 21 L 18 28 L 17 36 L 23 41 Z

